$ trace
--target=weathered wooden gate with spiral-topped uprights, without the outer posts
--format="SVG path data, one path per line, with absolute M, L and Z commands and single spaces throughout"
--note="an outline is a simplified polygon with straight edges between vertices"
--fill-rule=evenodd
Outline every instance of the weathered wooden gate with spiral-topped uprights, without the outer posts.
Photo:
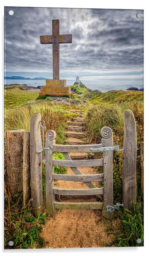
M 50 215 L 55 214 L 55 209 L 103 209 L 105 217 L 112 217 L 113 213 L 106 212 L 106 206 L 113 204 L 113 136 L 112 129 L 104 127 L 101 130 L 102 144 L 94 145 L 56 145 L 56 133 L 48 130 L 46 133 L 45 170 L 46 170 L 46 210 Z M 106 148 L 108 147 L 108 148 Z M 70 152 L 101 151 L 103 158 L 94 160 L 71 160 Z M 100 150 L 101 149 L 101 150 Z M 109 150 L 109 151 L 107 151 Z M 55 160 L 54 152 L 64 154 L 65 160 Z M 54 166 L 70 167 L 75 175 L 54 174 Z M 103 166 L 103 173 L 84 175 L 78 167 Z M 54 180 L 67 180 L 84 182 L 87 189 L 63 189 L 54 187 Z M 95 187 L 94 181 L 103 181 L 104 187 Z M 103 202 L 56 202 L 55 194 L 67 196 L 98 195 Z M 103 196 L 102 196 L 103 195 Z

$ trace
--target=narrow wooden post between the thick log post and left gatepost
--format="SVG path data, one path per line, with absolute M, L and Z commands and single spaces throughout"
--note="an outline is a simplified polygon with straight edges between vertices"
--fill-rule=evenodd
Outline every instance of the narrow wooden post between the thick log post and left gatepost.
M 30 187 L 30 132 L 24 132 L 23 145 L 23 203 L 28 204 L 31 198 Z

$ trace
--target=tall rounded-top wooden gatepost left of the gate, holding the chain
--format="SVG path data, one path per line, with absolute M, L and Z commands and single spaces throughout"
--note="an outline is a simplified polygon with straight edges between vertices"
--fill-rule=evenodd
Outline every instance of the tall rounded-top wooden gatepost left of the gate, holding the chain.
M 31 205 L 34 216 L 43 213 L 42 152 L 37 153 L 42 149 L 40 121 L 40 113 L 35 113 L 30 120 Z

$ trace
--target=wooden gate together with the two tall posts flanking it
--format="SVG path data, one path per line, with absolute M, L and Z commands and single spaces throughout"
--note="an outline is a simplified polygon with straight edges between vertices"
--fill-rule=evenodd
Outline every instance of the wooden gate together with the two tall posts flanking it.
M 40 113 L 36 113 L 30 122 L 30 171 L 31 198 L 33 215 L 43 212 L 42 190 L 42 142 L 40 134 Z M 113 145 L 112 129 L 103 127 L 102 143 L 93 145 L 57 145 L 56 133 L 48 130 L 45 139 L 45 176 L 46 176 L 46 211 L 54 215 L 56 209 L 102 209 L 106 218 L 114 216 L 113 202 Z M 102 152 L 101 159 L 71 160 L 71 152 Z M 136 202 L 136 123 L 132 111 L 124 111 L 124 160 L 123 160 L 123 202 L 126 209 L 132 209 Z M 65 160 L 55 160 L 54 153 L 60 152 Z M 54 166 L 70 167 L 75 175 L 55 174 Z M 103 173 L 84 175 L 78 167 L 102 166 Z M 86 189 L 64 189 L 54 186 L 54 180 L 84 182 Z M 103 187 L 95 187 L 92 182 L 102 181 Z M 101 202 L 57 202 L 55 195 L 89 196 L 96 195 Z

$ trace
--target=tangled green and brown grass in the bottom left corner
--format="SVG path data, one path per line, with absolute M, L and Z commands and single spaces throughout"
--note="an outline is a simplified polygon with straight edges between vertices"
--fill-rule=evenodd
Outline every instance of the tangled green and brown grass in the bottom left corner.
M 46 215 L 33 217 L 30 202 L 24 207 L 22 197 L 22 193 L 10 196 L 5 187 L 5 249 L 41 248 L 45 243 L 40 232 Z M 8 246 L 9 241 L 14 242 L 12 247 Z

